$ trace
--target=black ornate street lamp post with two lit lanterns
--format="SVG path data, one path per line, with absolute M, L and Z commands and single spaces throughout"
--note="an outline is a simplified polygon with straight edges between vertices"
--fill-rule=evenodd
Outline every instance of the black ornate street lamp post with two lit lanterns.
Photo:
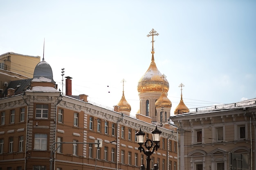
M 150 170 L 150 160 L 151 160 L 150 156 L 154 153 L 155 150 L 157 150 L 157 148 L 160 147 L 159 142 L 160 142 L 160 135 L 162 132 L 161 132 L 161 130 L 157 129 L 157 126 L 155 126 L 155 129 L 151 133 L 152 133 L 153 140 L 147 139 L 146 141 L 144 141 L 145 133 L 143 131 L 141 131 L 141 128 L 139 128 L 139 131 L 136 133 L 137 142 L 139 144 L 138 149 L 140 152 L 143 151 L 143 153 L 146 155 L 146 161 L 147 161 L 146 170 Z M 150 141 L 150 145 L 147 144 L 148 141 Z M 154 145 L 154 143 L 155 143 L 155 145 Z M 143 144 L 144 144 L 146 150 L 142 147 Z M 152 148 L 151 151 L 150 151 L 150 148 Z

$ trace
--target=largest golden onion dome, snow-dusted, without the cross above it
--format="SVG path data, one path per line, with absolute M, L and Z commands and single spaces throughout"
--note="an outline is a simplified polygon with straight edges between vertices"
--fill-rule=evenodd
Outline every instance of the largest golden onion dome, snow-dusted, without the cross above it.
M 163 77 L 160 71 L 157 69 L 154 59 L 154 51 L 152 53 L 151 64 L 148 67 L 146 73 L 139 79 L 138 82 L 138 92 L 147 92 L 147 91 L 164 91 L 167 93 L 169 91 L 169 83 L 167 79 Z

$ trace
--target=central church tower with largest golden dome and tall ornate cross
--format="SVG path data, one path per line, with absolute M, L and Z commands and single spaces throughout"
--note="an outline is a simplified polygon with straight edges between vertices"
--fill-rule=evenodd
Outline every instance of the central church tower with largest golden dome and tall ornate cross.
M 167 98 L 169 83 L 166 76 L 163 76 L 158 70 L 154 59 L 154 36 L 158 35 L 159 33 L 154 29 L 147 35 L 148 37 L 152 36 L 151 63 L 146 73 L 139 79 L 137 90 L 140 102 L 139 114 L 150 117 L 152 123 L 160 124 L 161 120 L 163 120 L 160 115 L 161 109 L 164 108 L 162 111 L 166 112 L 166 117 L 169 117 L 171 101 Z M 157 102 L 158 99 L 159 101 Z

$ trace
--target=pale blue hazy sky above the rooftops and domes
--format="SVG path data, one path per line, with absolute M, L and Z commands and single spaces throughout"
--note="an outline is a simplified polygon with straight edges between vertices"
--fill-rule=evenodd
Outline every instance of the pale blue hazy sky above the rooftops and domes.
M 123 91 L 131 115 L 151 62 L 169 82 L 171 115 L 188 108 L 256 98 L 255 0 L 15 0 L 0 5 L 0 54 L 40 56 L 62 90 L 113 108 Z

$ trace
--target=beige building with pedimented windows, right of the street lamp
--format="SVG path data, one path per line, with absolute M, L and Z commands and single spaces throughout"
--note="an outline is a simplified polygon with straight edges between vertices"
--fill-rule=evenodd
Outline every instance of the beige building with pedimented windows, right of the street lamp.
M 256 99 L 178 110 L 180 170 L 255 170 Z

